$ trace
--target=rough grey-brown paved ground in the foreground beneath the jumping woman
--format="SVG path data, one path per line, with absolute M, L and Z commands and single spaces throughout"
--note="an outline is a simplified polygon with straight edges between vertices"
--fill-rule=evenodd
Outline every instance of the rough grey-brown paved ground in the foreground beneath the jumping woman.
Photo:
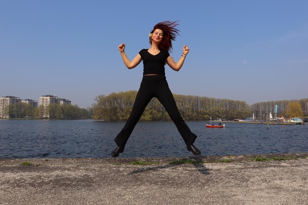
M 262 156 L 0 159 L 0 204 L 307 205 L 308 153 Z

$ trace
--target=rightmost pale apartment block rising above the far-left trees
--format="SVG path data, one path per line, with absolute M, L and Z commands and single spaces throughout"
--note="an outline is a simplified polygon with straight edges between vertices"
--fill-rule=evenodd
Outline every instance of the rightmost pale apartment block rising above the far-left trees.
M 58 104 L 62 106 L 70 105 L 71 101 L 59 98 L 53 95 L 42 95 L 39 97 L 39 113 L 41 118 L 49 118 L 47 107 L 49 104 Z

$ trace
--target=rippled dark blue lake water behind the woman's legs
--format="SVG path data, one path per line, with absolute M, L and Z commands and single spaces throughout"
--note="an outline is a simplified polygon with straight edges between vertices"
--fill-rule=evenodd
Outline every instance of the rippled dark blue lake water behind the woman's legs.
M 308 152 L 308 125 L 186 121 L 202 155 Z M 96 120 L 0 120 L 0 158 L 110 157 L 124 122 Z M 138 122 L 120 157 L 192 156 L 173 122 Z

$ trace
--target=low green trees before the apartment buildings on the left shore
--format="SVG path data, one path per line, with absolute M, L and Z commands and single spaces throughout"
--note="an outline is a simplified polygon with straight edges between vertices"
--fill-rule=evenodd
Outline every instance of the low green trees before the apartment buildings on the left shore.
M 17 102 L 10 104 L 5 108 L 10 118 L 40 118 L 40 108 L 33 107 L 29 104 Z M 91 118 L 89 110 L 79 108 L 76 105 L 58 105 L 50 104 L 47 107 L 47 112 L 50 118 L 70 118 L 70 119 L 84 119 Z

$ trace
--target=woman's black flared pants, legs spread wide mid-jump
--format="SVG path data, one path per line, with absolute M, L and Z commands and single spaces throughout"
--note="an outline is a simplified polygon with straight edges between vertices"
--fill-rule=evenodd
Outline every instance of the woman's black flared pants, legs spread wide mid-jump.
M 192 145 L 197 136 L 192 133 L 183 120 L 173 95 L 168 87 L 166 77 L 162 75 L 143 76 L 133 109 L 123 129 L 115 139 L 118 146 L 124 147 L 143 111 L 153 97 L 164 106 L 170 118 L 175 123 L 186 145 Z

